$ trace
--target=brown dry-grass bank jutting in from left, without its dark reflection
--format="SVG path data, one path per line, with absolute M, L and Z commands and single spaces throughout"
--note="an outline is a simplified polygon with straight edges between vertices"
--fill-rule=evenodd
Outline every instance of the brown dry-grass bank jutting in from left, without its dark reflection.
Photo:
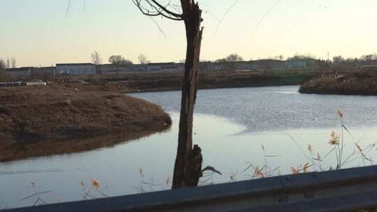
M 94 87 L 0 89 L 0 103 L 1 144 L 161 131 L 171 124 L 158 105 Z

